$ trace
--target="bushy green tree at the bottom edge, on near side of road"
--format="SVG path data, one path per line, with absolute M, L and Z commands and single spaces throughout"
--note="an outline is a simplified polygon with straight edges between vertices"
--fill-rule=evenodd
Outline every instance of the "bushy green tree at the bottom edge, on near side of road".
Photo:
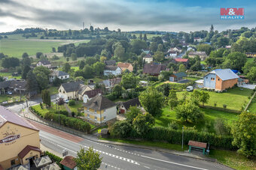
M 81 148 L 77 153 L 75 163 L 77 163 L 78 169 L 96 170 L 99 169 L 102 163 L 102 157 L 99 156 L 99 153 L 93 151 L 93 148 L 89 148 L 87 151 L 85 151 L 84 148 Z

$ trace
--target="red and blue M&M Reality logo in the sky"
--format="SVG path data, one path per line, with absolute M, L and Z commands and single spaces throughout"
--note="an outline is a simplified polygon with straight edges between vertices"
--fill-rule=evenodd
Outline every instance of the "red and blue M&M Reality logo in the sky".
M 245 9 L 243 7 L 221 7 L 221 19 L 245 19 Z

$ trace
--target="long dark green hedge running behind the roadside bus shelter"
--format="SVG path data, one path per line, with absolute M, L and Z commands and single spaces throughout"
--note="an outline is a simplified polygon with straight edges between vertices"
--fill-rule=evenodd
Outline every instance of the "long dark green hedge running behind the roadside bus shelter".
M 114 136 L 114 134 L 111 134 Z M 114 136 L 120 137 L 120 136 Z M 181 144 L 182 130 L 172 130 L 167 127 L 152 127 L 145 135 L 139 135 L 136 130 L 131 130 L 126 138 L 129 139 L 145 139 L 148 141 L 170 142 L 172 144 Z M 197 132 L 196 130 L 184 130 L 184 144 L 188 144 L 190 140 L 197 142 L 206 142 L 215 148 L 223 148 L 235 150 L 232 145 L 232 136 L 218 136 L 214 133 Z

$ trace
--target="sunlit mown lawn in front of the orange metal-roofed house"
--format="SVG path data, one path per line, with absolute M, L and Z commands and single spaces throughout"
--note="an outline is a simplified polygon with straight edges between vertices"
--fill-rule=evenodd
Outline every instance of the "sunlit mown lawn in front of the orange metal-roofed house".
M 233 88 L 223 93 L 208 91 L 210 99 L 206 106 L 214 106 L 217 103 L 217 107 L 223 108 L 225 104 L 227 105 L 227 109 L 239 111 L 244 103 L 248 103 L 248 97 L 251 95 L 251 92 L 252 90 L 248 88 Z M 185 91 L 177 92 L 179 100 L 181 100 L 183 93 Z

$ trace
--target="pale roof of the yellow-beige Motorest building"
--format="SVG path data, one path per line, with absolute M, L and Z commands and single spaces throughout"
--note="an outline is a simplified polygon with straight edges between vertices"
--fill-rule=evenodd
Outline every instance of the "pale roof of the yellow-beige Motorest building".
M 6 122 L 11 122 L 13 124 L 18 124 L 23 127 L 28 127 L 32 130 L 37 130 L 32 124 L 29 124 L 29 122 L 25 119 L 21 118 L 14 112 L 11 112 L 10 110 L 6 109 L 4 106 L 0 106 L 0 127 L 2 127 L 2 125 Z

